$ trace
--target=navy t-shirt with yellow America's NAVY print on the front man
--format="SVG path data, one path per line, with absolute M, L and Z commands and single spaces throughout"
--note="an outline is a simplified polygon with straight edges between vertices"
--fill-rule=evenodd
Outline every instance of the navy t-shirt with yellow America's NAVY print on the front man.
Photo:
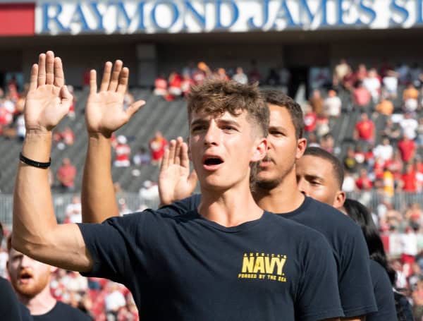
M 87 275 L 127 286 L 141 320 L 343 315 L 324 236 L 275 214 L 225 227 L 161 209 L 79 226 L 94 261 Z

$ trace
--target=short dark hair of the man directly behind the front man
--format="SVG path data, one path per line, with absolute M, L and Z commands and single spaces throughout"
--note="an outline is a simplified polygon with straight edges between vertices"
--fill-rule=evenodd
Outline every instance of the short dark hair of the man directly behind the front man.
M 295 136 L 297 139 L 302 138 L 304 135 L 304 115 L 302 114 L 300 104 L 281 92 L 281 90 L 262 90 L 262 95 L 267 104 L 274 104 L 288 109 L 295 127 Z

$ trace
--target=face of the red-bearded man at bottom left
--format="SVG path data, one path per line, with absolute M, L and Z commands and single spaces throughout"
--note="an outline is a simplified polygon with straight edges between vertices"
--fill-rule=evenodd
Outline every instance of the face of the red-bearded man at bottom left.
M 50 275 L 55 268 L 32 260 L 12 248 L 9 252 L 7 269 L 13 289 L 21 296 L 33 298 L 49 286 Z

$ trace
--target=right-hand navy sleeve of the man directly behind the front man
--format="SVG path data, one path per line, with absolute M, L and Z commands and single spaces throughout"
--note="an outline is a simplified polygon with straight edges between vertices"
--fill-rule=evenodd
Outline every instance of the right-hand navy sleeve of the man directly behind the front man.
M 339 293 L 345 317 L 367 315 L 377 310 L 369 269 L 369 251 L 359 226 L 343 236 Z

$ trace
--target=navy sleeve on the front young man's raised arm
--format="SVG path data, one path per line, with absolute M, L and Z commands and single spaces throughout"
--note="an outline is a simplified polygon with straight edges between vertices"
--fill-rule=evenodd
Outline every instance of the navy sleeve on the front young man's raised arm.
M 82 275 L 125 283 L 136 262 L 142 262 L 145 212 L 112 217 L 102 224 L 78 224 L 94 263 L 92 270 Z

